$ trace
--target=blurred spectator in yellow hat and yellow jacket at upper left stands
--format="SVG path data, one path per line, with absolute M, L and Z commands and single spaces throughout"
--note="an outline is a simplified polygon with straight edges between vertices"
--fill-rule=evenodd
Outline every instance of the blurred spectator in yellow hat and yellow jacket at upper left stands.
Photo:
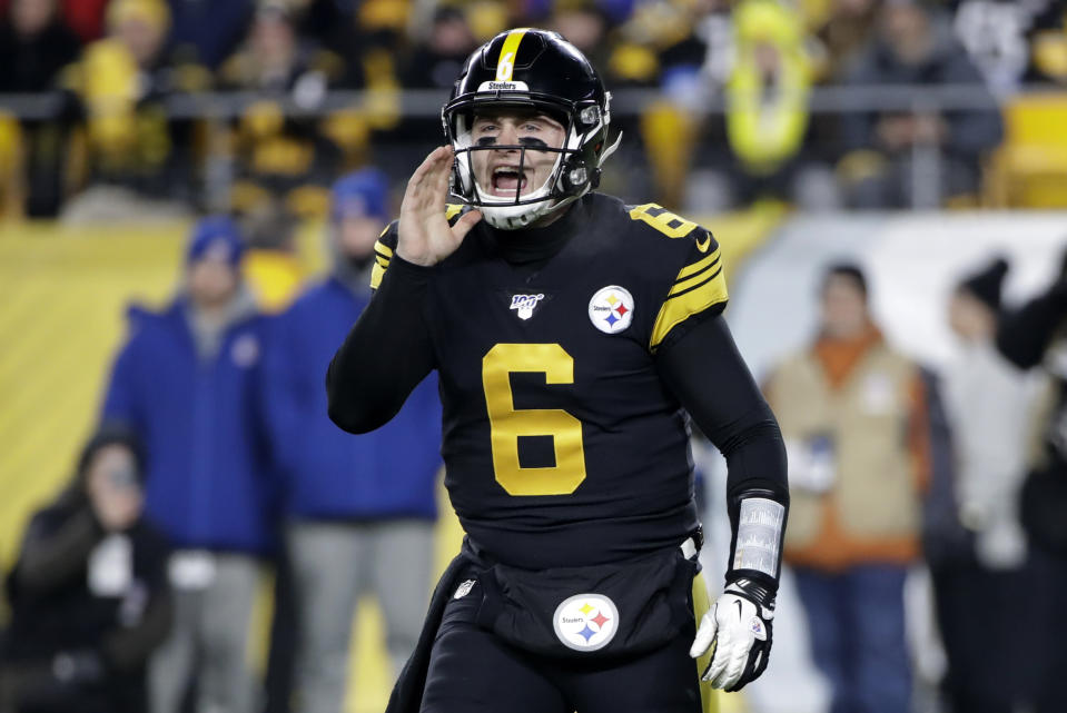
M 196 171 L 190 120 L 168 117 L 175 93 L 210 83 L 204 68 L 167 51 L 164 0 L 113 0 L 108 36 L 89 44 L 70 82 L 85 106 L 89 188 L 65 210 L 70 221 L 188 214 Z

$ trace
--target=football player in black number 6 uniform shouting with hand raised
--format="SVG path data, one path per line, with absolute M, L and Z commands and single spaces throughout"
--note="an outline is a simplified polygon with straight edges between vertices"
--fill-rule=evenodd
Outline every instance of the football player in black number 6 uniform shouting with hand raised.
M 593 192 L 618 145 L 610 95 L 556 33 L 476 50 L 442 117 L 448 146 L 412 176 L 327 374 L 352 433 L 439 375 L 467 537 L 389 710 L 710 710 L 702 687 L 767 666 L 788 507 L 781 434 L 721 316 L 719 245 Z M 729 466 L 710 610 L 686 414 Z

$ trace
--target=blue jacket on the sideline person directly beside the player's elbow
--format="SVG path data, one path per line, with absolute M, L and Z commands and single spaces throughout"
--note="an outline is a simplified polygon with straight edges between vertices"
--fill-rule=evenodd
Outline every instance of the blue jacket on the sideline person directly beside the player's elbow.
M 367 306 L 337 278 L 275 318 L 264 356 L 267 418 L 287 514 L 309 519 L 436 516 L 441 403 L 428 376 L 393 420 L 353 436 L 326 414 L 326 367 Z

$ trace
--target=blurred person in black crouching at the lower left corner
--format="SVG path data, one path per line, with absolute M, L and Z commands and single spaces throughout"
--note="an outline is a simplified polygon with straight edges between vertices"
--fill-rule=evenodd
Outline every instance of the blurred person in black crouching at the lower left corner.
M 142 516 L 136 440 L 103 430 L 33 515 L 7 580 L 4 713 L 144 713 L 145 662 L 171 618 L 167 543 Z

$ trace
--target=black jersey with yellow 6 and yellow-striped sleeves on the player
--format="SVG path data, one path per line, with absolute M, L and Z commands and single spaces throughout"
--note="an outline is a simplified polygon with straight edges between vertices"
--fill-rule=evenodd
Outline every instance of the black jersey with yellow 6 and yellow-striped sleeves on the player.
M 724 307 L 719 245 L 654 204 L 599 194 L 550 229 L 566 240 L 546 260 L 505 260 L 507 235 L 480 225 L 435 268 L 423 319 L 452 503 L 475 543 L 524 567 L 675 545 L 696 526 L 692 463 L 655 355 Z M 396 240 L 394 222 L 375 287 Z

